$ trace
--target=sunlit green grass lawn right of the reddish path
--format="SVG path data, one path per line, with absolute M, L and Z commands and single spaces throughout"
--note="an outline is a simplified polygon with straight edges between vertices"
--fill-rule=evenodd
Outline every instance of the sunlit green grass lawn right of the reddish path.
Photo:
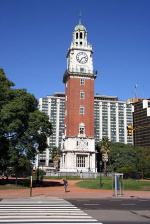
M 77 185 L 82 188 L 99 189 L 100 178 L 92 180 L 82 180 L 78 182 Z M 125 179 L 123 180 L 123 188 L 125 190 L 150 191 L 150 181 Z M 112 189 L 112 178 L 102 177 L 101 189 Z

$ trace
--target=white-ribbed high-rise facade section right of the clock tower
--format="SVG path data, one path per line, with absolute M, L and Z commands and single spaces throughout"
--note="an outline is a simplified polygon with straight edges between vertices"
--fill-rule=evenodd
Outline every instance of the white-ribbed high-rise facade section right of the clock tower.
M 94 120 L 96 142 L 108 137 L 111 142 L 133 144 L 127 126 L 133 123 L 132 105 L 113 96 L 94 97 Z

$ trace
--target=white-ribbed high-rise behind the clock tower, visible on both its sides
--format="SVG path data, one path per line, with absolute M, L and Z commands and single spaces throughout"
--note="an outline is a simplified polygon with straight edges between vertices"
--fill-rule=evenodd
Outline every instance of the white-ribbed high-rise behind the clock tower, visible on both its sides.
M 65 128 L 65 94 L 55 93 L 39 99 L 39 109 L 45 112 L 53 126 L 53 134 L 48 138 L 49 147 L 59 147 Z M 127 135 L 127 126 L 133 124 L 133 107 L 115 96 L 94 96 L 94 137 L 95 143 L 103 137 L 111 142 L 133 144 L 133 137 Z M 49 166 L 51 154 L 47 149 L 40 154 L 39 163 Z

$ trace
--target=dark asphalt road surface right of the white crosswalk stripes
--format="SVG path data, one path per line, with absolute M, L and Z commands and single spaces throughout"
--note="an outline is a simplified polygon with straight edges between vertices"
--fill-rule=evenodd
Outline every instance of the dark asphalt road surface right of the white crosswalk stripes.
M 150 223 L 149 199 L 68 199 L 103 224 Z

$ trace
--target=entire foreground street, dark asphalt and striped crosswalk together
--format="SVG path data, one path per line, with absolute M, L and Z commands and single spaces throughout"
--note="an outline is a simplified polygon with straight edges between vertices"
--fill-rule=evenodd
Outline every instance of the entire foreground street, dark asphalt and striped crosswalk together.
M 2 199 L 0 223 L 148 224 L 150 199 L 66 198 L 37 196 Z

